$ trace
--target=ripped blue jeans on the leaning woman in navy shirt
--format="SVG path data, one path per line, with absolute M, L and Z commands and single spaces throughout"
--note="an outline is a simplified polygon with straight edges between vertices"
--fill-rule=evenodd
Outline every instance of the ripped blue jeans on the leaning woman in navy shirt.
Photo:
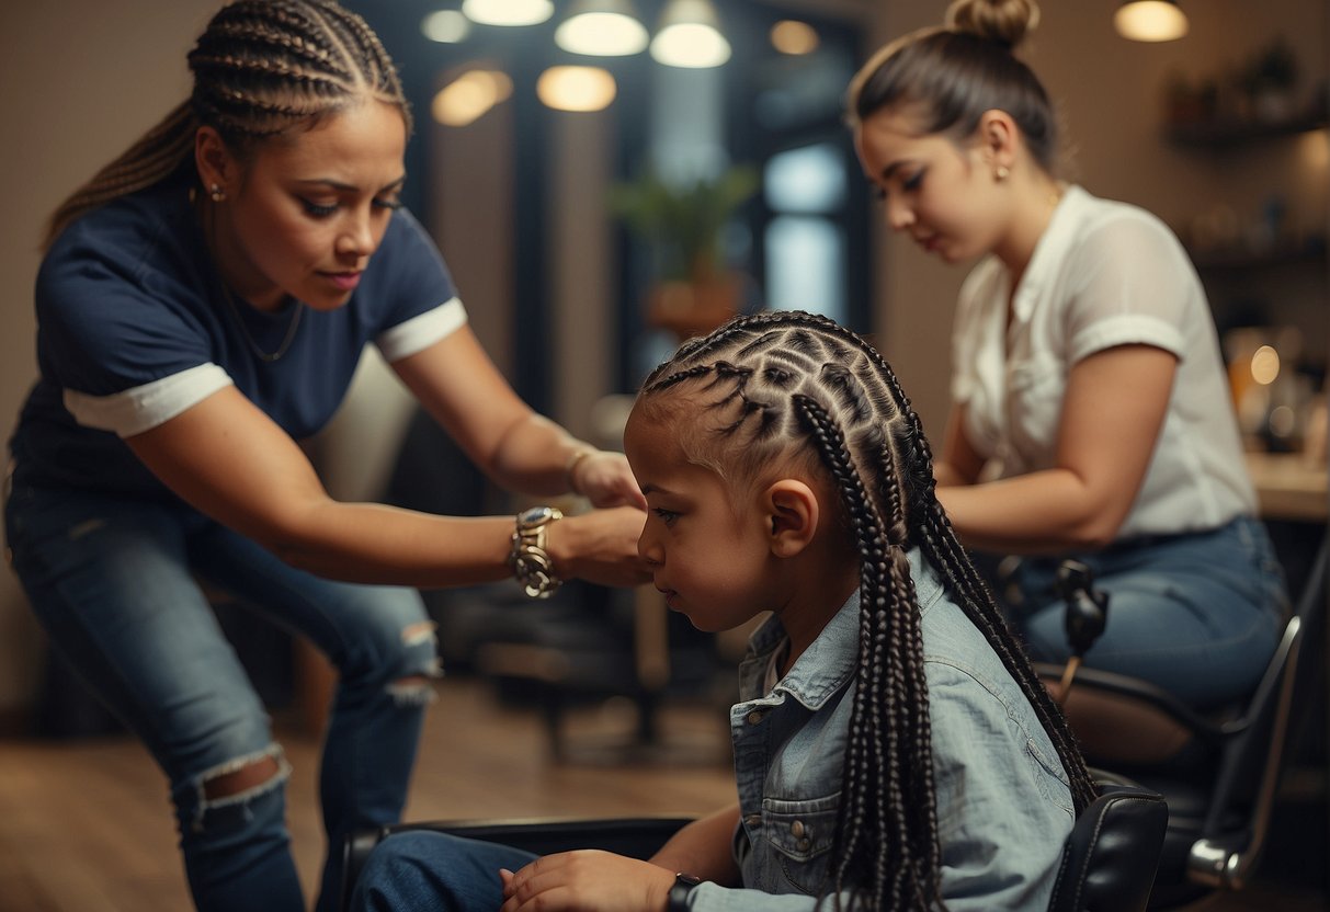
M 5 505 L 13 568 L 52 645 L 148 746 L 170 780 L 194 903 L 207 912 L 306 908 L 286 828 L 282 748 L 200 580 L 303 634 L 338 670 L 319 798 L 318 909 L 334 909 L 343 835 L 400 818 L 438 675 L 414 589 L 293 569 L 180 501 L 23 483 Z M 209 783 L 254 766 L 253 783 Z M 132 832 L 125 834 L 133 839 Z

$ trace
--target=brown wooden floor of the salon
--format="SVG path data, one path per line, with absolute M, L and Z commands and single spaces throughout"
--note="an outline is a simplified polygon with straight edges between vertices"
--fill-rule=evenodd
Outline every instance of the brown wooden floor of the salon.
M 644 755 L 653 762 L 630 764 L 585 760 L 609 755 L 592 748 L 630 742 L 632 709 L 581 711 L 565 731 L 584 762 L 552 763 L 535 713 L 501 703 L 475 679 L 436 687 L 407 819 L 694 814 L 733 799 L 728 734 L 714 707 L 668 707 L 664 743 Z M 323 854 L 318 744 L 281 719 L 279 737 L 295 768 L 290 824 L 309 889 Z M 136 742 L 0 741 L 0 912 L 189 908 L 166 786 Z M 1311 912 L 1330 904 L 1319 891 L 1257 884 L 1205 908 Z

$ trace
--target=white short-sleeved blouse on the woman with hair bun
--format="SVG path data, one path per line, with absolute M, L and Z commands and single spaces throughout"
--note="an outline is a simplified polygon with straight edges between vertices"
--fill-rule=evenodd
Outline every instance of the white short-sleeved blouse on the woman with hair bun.
M 1120 538 L 1213 529 L 1254 514 L 1205 291 L 1173 233 L 1150 213 L 1071 186 L 1035 247 L 1013 300 L 1011 275 L 987 257 L 960 291 L 952 399 L 994 477 L 1056 465 L 1072 366 L 1123 344 L 1177 356 L 1168 412 Z

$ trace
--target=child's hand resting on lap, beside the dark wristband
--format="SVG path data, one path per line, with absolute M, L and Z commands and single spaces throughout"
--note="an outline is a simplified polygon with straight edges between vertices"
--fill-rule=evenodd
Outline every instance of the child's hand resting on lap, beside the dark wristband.
M 674 884 L 672 871 L 597 850 L 547 855 L 499 876 L 500 912 L 664 912 Z

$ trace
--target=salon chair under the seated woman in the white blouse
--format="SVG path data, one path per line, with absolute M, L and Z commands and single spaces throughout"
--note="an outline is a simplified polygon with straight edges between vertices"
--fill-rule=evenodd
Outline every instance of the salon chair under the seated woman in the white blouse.
M 1099 624 L 1091 605 L 1103 598 L 1092 584 L 1064 597 L 1068 635 L 1075 642 L 1073 627 Z M 1249 883 L 1265 848 L 1294 735 L 1323 673 L 1317 659 L 1323 658 L 1326 604 L 1322 533 L 1260 685 L 1241 705 L 1217 713 L 1197 713 L 1125 675 L 1080 669 L 1072 677 L 1064 711 L 1087 760 L 1121 771 L 1168 802 L 1168 832 L 1149 908 L 1180 908 Z M 1107 622 L 1112 624 L 1111 605 Z M 1036 669 L 1061 697 L 1065 666 Z

